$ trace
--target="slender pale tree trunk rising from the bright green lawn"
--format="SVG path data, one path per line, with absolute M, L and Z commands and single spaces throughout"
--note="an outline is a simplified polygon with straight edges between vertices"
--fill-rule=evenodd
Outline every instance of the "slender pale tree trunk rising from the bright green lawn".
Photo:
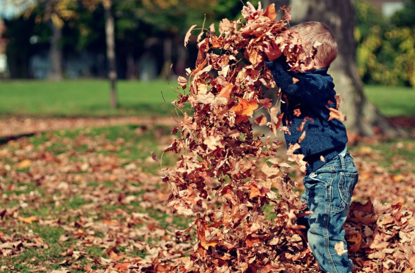
M 112 1 L 104 0 L 105 9 L 105 38 L 106 38 L 106 59 L 108 62 L 108 78 L 111 86 L 111 108 L 118 107 L 116 80 L 117 64 L 115 59 L 115 24 L 111 11 Z

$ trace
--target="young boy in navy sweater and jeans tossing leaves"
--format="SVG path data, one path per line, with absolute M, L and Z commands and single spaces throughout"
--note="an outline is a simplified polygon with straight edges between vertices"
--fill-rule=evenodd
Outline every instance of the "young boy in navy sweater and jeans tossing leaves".
M 308 163 L 301 197 L 313 212 L 305 217 L 307 237 L 321 270 L 350 273 L 353 264 L 347 252 L 339 255 L 335 250 L 336 244 L 337 248 L 341 249 L 342 244 L 347 248 L 342 226 L 358 179 L 353 157 L 346 148 L 346 128 L 337 119 L 329 121 L 329 108 L 337 106 L 333 79 L 327 71 L 337 56 L 337 43 L 331 31 L 319 22 L 299 24 L 291 30 L 298 33 L 306 49 L 316 41 L 322 43 L 317 48 L 314 66 L 301 73 L 288 71 L 290 66 L 278 46 L 266 52 L 270 60 L 266 65 L 283 94 L 283 125 L 290 130 L 290 134 L 285 134 L 287 146 L 301 142 L 295 153 L 303 154 Z M 305 117 L 309 117 L 303 126 L 306 137 L 299 141 L 303 133 L 299 128 Z

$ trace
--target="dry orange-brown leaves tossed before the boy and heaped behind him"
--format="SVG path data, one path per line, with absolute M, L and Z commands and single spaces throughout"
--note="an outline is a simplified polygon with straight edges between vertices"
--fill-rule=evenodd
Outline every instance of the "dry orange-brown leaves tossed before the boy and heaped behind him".
M 193 229 L 196 235 L 190 258 L 176 261 L 180 271 L 318 271 L 301 226 L 296 225 L 304 205 L 284 171 L 288 164 L 275 159 L 281 143 L 271 136 L 264 141 L 253 137 L 249 121 L 261 106 L 270 112 L 271 120 L 262 115 L 255 124 L 267 125 L 275 137 L 277 130 L 287 130 L 280 127 L 282 117 L 277 116 L 276 101 L 263 98 L 264 91 L 274 87 L 264 66 L 270 41 L 280 47 L 292 70 L 312 60 L 313 52 L 306 52 L 285 27 L 290 15 L 287 9 L 283 11 L 283 20 L 274 21 L 274 5 L 265 11 L 244 7 L 244 21 L 222 20 L 219 36 L 211 25 L 207 37 L 198 42 L 195 69 L 187 70 L 187 78 L 178 79 L 189 92 L 173 103 L 181 110 L 189 102 L 191 115 L 184 113 L 173 131 L 180 132 L 180 138 L 165 152 L 180 154 L 180 158 L 163 180 L 171 190 L 168 205 L 180 215 L 196 215 L 192 225 L 179 232 L 186 238 Z M 189 29 L 185 45 L 194 27 Z M 203 32 L 198 40 L 202 36 Z M 297 148 L 298 144 L 292 146 L 287 155 L 304 171 L 303 156 L 293 154 Z M 273 208 L 275 218 L 264 215 L 267 205 Z M 354 211 L 347 226 L 357 266 L 376 260 L 382 270 L 390 272 L 413 267 L 414 237 L 408 235 L 414 231 L 409 220 L 413 213 L 399 205 L 376 207 L 371 212 Z M 365 226 L 361 225 L 363 217 L 367 218 Z M 384 221 L 390 225 L 385 226 Z M 400 236 L 401 231 L 407 235 Z M 379 251 L 386 246 L 388 250 Z M 370 256 L 359 258 L 361 253 Z M 400 260 L 394 260 L 395 256 Z

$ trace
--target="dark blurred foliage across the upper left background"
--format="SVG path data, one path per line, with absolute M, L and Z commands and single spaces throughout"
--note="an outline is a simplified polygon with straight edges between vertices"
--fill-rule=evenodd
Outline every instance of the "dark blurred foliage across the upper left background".
M 252 2 L 257 4 L 258 0 Z M 115 17 L 117 62 L 124 72 L 127 56 L 140 59 L 150 47 L 152 52 L 162 53 L 166 38 L 172 40 L 173 61 L 176 61 L 177 48 L 183 45 L 190 25 L 201 28 L 205 15 L 205 27 L 223 18 L 239 17 L 243 6 L 242 1 L 228 0 L 33 0 L 31 3 L 22 14 L 5 20 L 13 78 L 29 77 L 30 57 L 47 52 L 53 35 L 51 23 L 62 30 L 59 44 L 64 58 L 84 51 L 105 56 L 105 3 L 111 5 Z M 29 42 L 33 37 L 34 42 Z M 165 56 L 157 54 L 155 58 L 163 62 Z

